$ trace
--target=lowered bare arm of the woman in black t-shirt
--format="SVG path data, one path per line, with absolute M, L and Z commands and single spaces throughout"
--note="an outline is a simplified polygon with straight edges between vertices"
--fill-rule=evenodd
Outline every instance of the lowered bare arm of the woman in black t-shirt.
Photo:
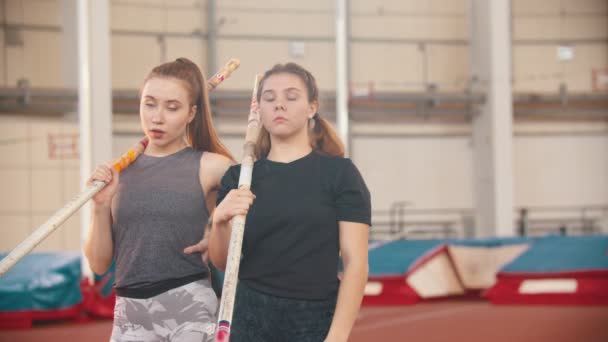
M 325 341 L 347 341 L 355 324 L 367 283 L 367 241 L 369 226 L 340 221 L 340 251 L 344 274 L 338 292 L 336 311 Z

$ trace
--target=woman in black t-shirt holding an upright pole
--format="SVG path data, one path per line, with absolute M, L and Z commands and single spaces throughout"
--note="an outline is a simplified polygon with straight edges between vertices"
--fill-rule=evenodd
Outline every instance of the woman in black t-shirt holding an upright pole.
M 257 99 L 263 127 L 251 191 L 236 189 L 240 166 L 231 167 L 209 236 L 211 261 L 224 269 L 230 220 L 247 215 L 230 340 L 346 341 L 368 274 L 369 192 L 318 114 L 310 72 L 275 65 Z

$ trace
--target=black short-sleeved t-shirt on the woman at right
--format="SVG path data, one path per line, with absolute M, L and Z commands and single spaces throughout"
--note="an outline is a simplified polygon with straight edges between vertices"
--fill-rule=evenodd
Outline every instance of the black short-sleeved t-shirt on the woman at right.
M 219 204 L 238 187 L 240 165 L 222 178 Z M 370 194 L 350 159 L 311 152 L 289 163 L 259 160 L 247 214 L 239 281 L 288 298 L 338 290 L 338 221 L 371 224 Z

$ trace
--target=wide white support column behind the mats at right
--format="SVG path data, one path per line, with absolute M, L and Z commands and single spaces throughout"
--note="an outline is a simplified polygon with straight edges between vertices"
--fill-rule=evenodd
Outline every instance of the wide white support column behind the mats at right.
M 476 236 L 513 236 L 511 3 L 470 0 L 473 90 L 486 101 L 473 116 Z

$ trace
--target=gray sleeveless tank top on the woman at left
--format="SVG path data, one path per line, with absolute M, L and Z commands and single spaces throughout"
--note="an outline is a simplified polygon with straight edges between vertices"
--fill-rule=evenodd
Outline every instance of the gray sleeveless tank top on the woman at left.
M 141 155 L 120 174 L 112 201 L 117 288 L 146 288 L 208 270 L 199 242 L 209 218 L 199 180 L 201 151 L 184 148 L 165 157 Z

